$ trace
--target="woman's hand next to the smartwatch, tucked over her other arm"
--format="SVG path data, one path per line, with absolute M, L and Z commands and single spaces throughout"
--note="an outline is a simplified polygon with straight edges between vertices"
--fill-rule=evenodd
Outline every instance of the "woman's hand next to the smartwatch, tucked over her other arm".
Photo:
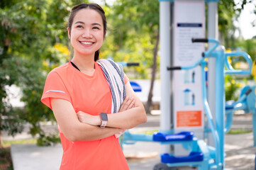
M 77 112 L 77 118 L 82 123 L 89 125 L 101 125 L 101 118 L 99 115 L 90 115 L 82 111 Z

